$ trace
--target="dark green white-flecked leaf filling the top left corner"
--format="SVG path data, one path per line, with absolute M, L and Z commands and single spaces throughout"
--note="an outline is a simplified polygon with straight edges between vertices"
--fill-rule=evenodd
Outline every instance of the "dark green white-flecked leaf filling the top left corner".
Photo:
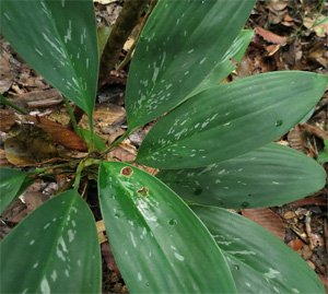
M 2 0 L 1 34 L 30 66 L 91 116 L 98 73 L 92 0 Z

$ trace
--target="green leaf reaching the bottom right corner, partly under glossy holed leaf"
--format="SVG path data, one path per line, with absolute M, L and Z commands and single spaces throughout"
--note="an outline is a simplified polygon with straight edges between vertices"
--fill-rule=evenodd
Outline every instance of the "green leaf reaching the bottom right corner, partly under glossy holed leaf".
M 325 293 L 305 261 L 258 224 L 220 208 L 192 210 L 226 257 L 238 293 Z

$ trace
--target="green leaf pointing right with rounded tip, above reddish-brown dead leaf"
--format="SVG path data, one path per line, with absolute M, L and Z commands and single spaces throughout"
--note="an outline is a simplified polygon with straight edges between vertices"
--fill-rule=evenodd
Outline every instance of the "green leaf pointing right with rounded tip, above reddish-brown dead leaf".
M 314 160 L 274 143 L 222 163 L 156 176 L 187 201 L 234 209 L 281 205 L 326 183 L 325 169 Z

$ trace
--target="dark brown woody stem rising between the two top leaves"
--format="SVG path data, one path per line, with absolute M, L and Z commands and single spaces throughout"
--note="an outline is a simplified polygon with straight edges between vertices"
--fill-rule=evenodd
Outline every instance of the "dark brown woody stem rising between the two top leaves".
M 101 59 L 99 86 L 106 83 L 110 70 L 115 68 L 126 39 L 137 25 L 143 8 L 150 0 L 126 0 L 110 32 Z

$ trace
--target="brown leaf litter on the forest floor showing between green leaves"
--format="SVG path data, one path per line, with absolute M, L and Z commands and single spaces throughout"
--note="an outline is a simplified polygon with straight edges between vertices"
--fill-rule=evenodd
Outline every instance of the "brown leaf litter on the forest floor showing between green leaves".
M 98 0 L 95 7 L 98 26 L 106 27 L 118 16 L 121 1 Z M 328 15 L 326 1 L 258 1 L 246 24 L 248 28 L 255 31 L 254 38 L 245 58 L 230 78 L 238 79 L 277 70 L 305 70 L 328 74 L 328 21 L 320 23 L 325 20 L 325 15 Z M 131 48 L 134 35 L 132 34 L 126 43 L 121 51 L 121 60 Z M 26 108 L 30 115 L 47 117 L 66 125 L 69 118 L 65 115 L 61 95 L 31 70 L 5 40 L 0 39 L 0 93 L 4 93 L 15 104 Z M 94 116 L 96 130 L 107 141 L 113 141 L 126 130 L 124 91 L 127 73 L 128 66 L 119 72 L 113 71 L 110 83 L 97 95 Z M 24 165 L 24 161 L 28 162 L 31 154 L 46 152 L 48 145 L 43 146 L 40 143 L 23 158 L 20 157 L 20 142 L 13 142 L 14 148 L 4 150 L 3 142 L 17 131 L 15 129 L 17 127 L 13 127 L 15 119 L 12 110 L 8 108 L 0 110 L 1 166 Z M 306 120 L 280 138 L 279 143 L 294 148 L 315 160 L 319 158 L 328 170 L 324 154 L 325 140 L 328 140 L 327 121 L 328 93 L 326 92 Z M 81 124 L 85 125 L 85 119 L 82 119 Z M 125 161 L 133 158 L 147 131 L 144 129 L 129 137 L 110 153 L 110 156 Z M 326 148 L 328 149 L 328 145 Z M 74 156 L 78 157 L 79 153 Z M 327 156 L 326 153 L 326 161 Z M 1 215 L 0 237 L 8 234 L 24 216 L 49 199 L 63 185 L 65 179 L 58 177 L 56 181 L 37 181 L 31 186 L 24 193 L 24 201 L 19 199 Z M 328 186 L 315 195 L 286 205 L 244 209 L 239 212 L 284 240 L 318 274 L 326 289 L 328 287 L 327 198 Z M 102 236 L 103 291 L 104 293 L 128 293 L 110 254 L 104 226 L 102 222 L 97 225 Z

